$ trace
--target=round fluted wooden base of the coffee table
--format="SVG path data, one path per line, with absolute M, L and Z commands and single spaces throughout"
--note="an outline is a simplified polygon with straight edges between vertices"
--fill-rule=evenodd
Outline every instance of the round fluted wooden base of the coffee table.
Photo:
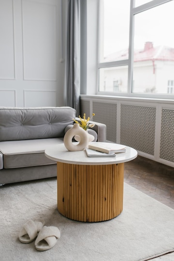
M 58 211 L 85 222 L 109 220 L 123 210 L 124 163 L 75 165 L 57 162 Z

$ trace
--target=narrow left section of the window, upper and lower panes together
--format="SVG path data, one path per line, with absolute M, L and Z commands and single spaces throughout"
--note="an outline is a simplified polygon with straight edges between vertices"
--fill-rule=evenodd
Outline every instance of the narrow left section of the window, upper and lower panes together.
M 105 92 L 127 93 L 128 89 L 130 0 L 121 2 L 100 0 L 100 92 L 104 91 L 103 82 Z M 117 86 L 113 86 L 115 81 Z

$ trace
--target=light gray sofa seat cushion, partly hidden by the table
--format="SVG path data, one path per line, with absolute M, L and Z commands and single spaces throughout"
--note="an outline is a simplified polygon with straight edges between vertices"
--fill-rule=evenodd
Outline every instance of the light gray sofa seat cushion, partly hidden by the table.
M 63 138 L 43 138 L 28 140 L 1 141 L 3 168 L 23 168 L 56 164 L 44 155 L 45 149 L 63 143 Z

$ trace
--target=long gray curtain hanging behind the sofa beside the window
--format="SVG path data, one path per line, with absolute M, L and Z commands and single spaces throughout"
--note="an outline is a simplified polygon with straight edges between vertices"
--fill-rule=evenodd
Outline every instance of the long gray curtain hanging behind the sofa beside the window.
M 80 0 L 68 0 L 67 55 L 66 55 L 67 106 L 80 112 Z

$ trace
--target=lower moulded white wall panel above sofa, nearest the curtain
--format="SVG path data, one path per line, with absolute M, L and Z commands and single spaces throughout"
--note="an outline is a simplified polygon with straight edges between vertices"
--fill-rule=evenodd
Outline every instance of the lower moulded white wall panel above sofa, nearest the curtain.
M 24 91 L 25 107 L 56 107 L 56 91 Z

